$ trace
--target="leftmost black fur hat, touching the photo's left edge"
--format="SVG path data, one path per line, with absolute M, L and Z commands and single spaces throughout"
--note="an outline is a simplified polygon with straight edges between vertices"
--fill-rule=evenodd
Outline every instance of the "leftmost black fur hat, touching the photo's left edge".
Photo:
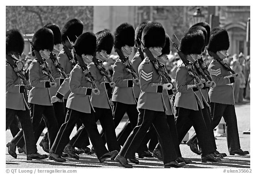
M 6 31 L 5 34 L 6 41 L 6 53 L 14 51 L 22 54 L 24 50 L 24 39 L 17 29 L 11 29 Z

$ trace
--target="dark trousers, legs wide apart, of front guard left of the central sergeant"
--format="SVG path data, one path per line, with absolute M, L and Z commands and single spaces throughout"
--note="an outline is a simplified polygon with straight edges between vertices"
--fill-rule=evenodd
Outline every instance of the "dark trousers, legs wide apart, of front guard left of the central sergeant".
M 64 147 L 69 141 L 69 136 L 75 127 L 76 121 L 80 119 L 86 128 L 89 138 L 91 139 L 92 145 L 96 150 L 96 155 L 98 159 L 108 152 L 102 139 L 100 138 L 100 133 L 97 129 L 97 124 L 95 122 L 95 117 L 93 113 L 79 112 L 73 109 L 68 109 L 66 115 L 65 123 L 61 125 L 58 135 L 52 145 L 50 152 L 54 154 L 61 155 Z

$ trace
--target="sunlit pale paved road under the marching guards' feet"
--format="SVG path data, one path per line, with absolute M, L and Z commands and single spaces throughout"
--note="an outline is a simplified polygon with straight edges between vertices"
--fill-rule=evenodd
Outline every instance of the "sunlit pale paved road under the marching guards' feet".
M 236 105 L 236 115 L 238 121 L 238 129 L 240 135 L 240 145 L 243 150 L 250 151 L 250 135 L 244 135 L 243 131 L 250 128 L 250 103 Z M 124 125 L 125 120 L 116 129 L 119 132 Z M 100 125 L 98 125 L 101 130 Z M 72 135 L 76 131 L 73 130 Z M 189 131 L 189 136 L 194 132 L 193 128 Z M 10 131 L 6 131 L 6 143 L 12 139 Z M 37 147 L 38 151 L 42 154 L 45 152 L 39 146 L 39 142 L 42 139 L 40 137 Z M 220 152 L 227 153 L 228 157 L 225 157 L 221 163 L 202 163 L 200 156 L 192 153 L 189 147 L 185 144 L 180 145 L 180 150 L 184 158 L 189 158 L 193 161 L 192 164 L 186 165 L 185 168 L 250 168 L 250 155 L 247 156 L 231 156 L 228 154 L 227 142 L 225 137 L 218 137 L 216 139 L 217 148 Z M 17 151 L 18 153 L 18 151 Z M 163 168 L 163 163 L 155 158 L 139 159 L 139 165 L 133 165 L 134 168 Z M 52 160 L 46 159 L 41 161 L 27 161 L 26 155 L 18 154 L 17 159 L 8 155 L 6 148 L 6 168 L 118 168 L 118 163 L 107 159 L 106 162 L 100 163 L 96 158 L 96 155 L 80 155 L 80 160 L 68 159 L 67 162 L 58 163 Z

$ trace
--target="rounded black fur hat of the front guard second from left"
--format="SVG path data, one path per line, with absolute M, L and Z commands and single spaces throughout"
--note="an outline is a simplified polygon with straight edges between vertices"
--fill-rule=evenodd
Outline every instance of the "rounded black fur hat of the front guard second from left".
M 46 27 L 40 28 L 33 35 L 32 45 L 37 51 L 44 49 L 52 51 L 54 46 L 54 36 L 52 30 Z

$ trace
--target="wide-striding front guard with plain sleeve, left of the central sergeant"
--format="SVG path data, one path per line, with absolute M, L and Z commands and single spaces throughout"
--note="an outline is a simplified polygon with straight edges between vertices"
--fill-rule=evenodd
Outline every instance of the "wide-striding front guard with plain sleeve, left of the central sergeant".
M 91 32 L 80 35 L 74 44 L 76 58 L 82 59 L 86 63 L 92 62 L 93 55 L 96 51 L 96 36 Z M 82 62 L 81 62 L 82 63 Z M 76 121 L 81 120 L 88 132 L 92 145 L 95 148 L 96 155 L 100 162 L 104 162 L 108 158 L 114 158 L 118 151 L 109 152 L 100 137 L 95 122 L 94 108 L 92 107 L 89 96 L 92 93 L 99 95 L 100 91 L 96 86 L 91 88 L 91 82 L 88 79 L 88 72 L 83 70 L 85 67 L 78 63 L 70 73 L 69 87 L 71 93 L 68 96 L 65 123 L 61 125 L 55 142 L 50 150 L 49 159 L 56 162 L 65 162 L 61 157 L 62 151 L 69 141 Z M 87 70 L 88 71 L 88 70 Z M 86 73 L 86 74 L 85 74 Z

